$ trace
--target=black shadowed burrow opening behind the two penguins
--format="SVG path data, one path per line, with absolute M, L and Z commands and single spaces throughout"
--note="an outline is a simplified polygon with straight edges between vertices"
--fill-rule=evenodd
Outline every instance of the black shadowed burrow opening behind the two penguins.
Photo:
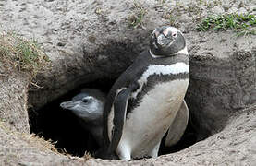
M 38 136 L 43 136 L 46 140 L 51 139 L 55 142 L 55 148 L 60 152 L 67 152 L 73 156 L 82 157 L 88 151 L 93 155 L 99 146 L 91 136 L 91 133 L 79 124 L 77 116 L 68 110 L 60 108 L 59 104 L 63 101 L 70 101 L 83 88 L 100 89 L 104 93 L 107 93 L 114 81 L 97 80 L 90 84 L 82 85 L 45 105 L 40 110 L 30 110 L 30 132 Z M 191 118 L 189 117 L 189 125 L 177 145 L 172 148 L 166 148 L 162 143 L 159 155 L 177 152 L 197 142 L 197 134 L 190 122 Z

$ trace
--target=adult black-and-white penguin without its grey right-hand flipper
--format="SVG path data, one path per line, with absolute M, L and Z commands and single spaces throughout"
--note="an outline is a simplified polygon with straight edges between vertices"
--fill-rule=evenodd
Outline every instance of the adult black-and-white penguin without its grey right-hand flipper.
M 157 157 L 162 137 L 186 104 L 188 85 L 189 55 L 182 32 L 169 26 L 153 30 L 150 50 L 140 53 L 107 96 L 104 157 Z

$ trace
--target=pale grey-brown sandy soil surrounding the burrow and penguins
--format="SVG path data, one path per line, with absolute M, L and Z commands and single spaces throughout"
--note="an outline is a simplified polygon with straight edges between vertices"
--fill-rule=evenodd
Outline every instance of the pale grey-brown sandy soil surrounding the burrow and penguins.
M 132 27 L 131 18 L 144 11 L 142 24 Z M 256 165 L 255 36 L 236 38 L 232 30 L 195 30 L 209 14 L 232 12 L 255 15 L 256 2 L 1 0 L 0 30 L 16 30 L 38 40 L 52 66 L 35 79 L 43 89 L 29 89 L 26 77 L 6 76 L 0 67 L 4 83 L 0 94 L 5 99 L 0 101 L 0 163 Z M 191 54 L 189 109 L 201 137 L 212 136 L 157 159 L 124 162 L 71 158 L 28 134 L 29 104 L 39 109 L 82 84 L 117 77 L 147 47 L 149 33 L 164 24 L 186 35 Z

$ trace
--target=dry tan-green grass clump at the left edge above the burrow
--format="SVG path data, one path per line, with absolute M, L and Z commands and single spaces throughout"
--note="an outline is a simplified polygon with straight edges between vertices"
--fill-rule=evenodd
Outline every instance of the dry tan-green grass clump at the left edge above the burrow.
M 0 34 L 0 66 L 6 71 L 15 68 L 35 77 L 48 62 L 48 56 L 41 51 L 37 41 L 27 40 L 15 32 Z

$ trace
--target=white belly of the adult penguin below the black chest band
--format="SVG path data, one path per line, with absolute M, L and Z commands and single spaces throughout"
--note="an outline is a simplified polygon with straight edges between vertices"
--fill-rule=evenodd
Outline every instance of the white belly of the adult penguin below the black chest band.
M 129 144 L 132 156 L 147 154 L 162 139 L 176 117 L 188 85 L 189 79 L 158 84 L 128 113 L 120 143 Z

